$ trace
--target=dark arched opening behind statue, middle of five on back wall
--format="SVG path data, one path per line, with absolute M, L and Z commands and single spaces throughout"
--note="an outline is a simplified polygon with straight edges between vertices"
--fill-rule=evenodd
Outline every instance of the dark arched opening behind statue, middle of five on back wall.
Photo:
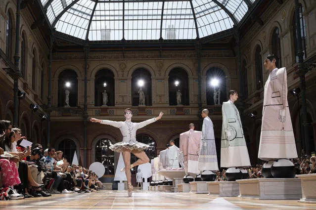
M 151 106 L 151 74 L 148 70 L 142 68 L 136 69 L 132 74 L 132 105 L 139 105 L 139 80 L 144 81 L 144 85 L 141 89 L 145 95 L 145 105 Z

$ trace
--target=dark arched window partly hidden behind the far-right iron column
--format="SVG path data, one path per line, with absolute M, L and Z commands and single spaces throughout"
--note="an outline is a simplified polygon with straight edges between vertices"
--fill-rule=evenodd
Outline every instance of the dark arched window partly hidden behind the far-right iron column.
M 304 7 L 300 4 L 300 28 L 301 28 L 301 37 L 302 40 L 302 50 L 304 52 L 303 59 L 307 57 L 306 54 L 306 25 L 305 25 L 305 16 L 303 15 Z M 296 32 L 296 18 L 295 12 L 293 16 L 293 35 L 294 35 L 294 54 L 295 54 L 295 62 L 298 62 L 297 48 L 298 48 L 298 40 L 297 40 L 297 32 Z

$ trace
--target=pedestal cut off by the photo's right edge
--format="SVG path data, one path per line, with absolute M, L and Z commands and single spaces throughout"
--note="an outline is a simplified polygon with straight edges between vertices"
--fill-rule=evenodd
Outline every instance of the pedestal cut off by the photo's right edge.
M 316 203 L 316 174 L 302 174 L 296 175 L 301 179 L 302 198 L 299 202 L 302 203 Z

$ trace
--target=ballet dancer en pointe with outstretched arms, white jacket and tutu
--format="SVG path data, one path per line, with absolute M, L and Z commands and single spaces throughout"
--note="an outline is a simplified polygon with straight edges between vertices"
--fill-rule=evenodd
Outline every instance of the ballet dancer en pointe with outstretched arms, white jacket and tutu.
M 126 109 L 124 112 L 124 116 L 126 120 L 124 122 L 116 122 L 116 121 L 109 121 L 109 120 L 98 120 L 95 118 L 91 118 L 90 121 L 93 123 L 100 123 L 104 125 L 110 125 L 117 128 L 120 128 L 123 141 L 118 142 L 109 148 L 114 152 L 122 152 L 125 168 L 122 168 L 121 171 L 125 171 L 127 182 L 128 182 L 128 195 L 132 196 L 132 182 L 131 182 L 131 168 L 149 163 L 149 158 L 147 157 L 146 153 L 143 151 L 144 149 L 148 148 L 149 145 L 143 144 L 136 141 L 136 130 L 147 126 L 148 124 L 154 123 L 157 120 L 160 120 L 164 113 L 160 112 L 159 116 L 156 118 L 152 118 L 140 123 L 132 123 L 132 110 Z M 139 158 L 135 163 L 131 165 L 131 153 L 133 153 L 137 158 Z

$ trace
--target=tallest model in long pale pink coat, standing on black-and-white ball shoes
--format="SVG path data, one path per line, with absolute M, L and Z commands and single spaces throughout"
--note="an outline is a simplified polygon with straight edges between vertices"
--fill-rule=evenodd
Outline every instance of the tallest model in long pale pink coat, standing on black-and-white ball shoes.
M 295 167 L 287 159 L 297 158 L 297 151 L 287 102 L 287 75 L 275 62 L 275 55 L 264 60 L 270 75 L 265 84 L 258 158 L 267 161 L 262 168 L 264 177 L 292 178 Z

